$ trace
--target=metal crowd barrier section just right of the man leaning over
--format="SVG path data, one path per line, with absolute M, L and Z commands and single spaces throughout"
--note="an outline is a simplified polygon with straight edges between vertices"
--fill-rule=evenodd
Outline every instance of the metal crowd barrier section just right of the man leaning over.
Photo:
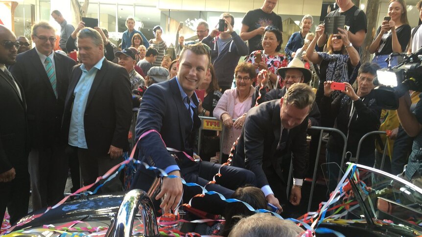
M 343 144 L 344 144 L 344 146 L 343 146 L 343 153 L 342 153 L 342 158 L 341 158 L 341 165 L 340 165 L 339 177 L 342 176 L 341 174 L 342 174 L 342 169 L 343 169 L 343 166 L 344 166 L 344 161 L 346 159 L 346 147 L 347 147 L 347 138 L 346 138 L 346 135 L 342 131 L 340 131 L 339 129 L 325 128 L 325 127 L 316 127 L 316 126 L 315 127 L 312 126 L 309 129 L 320 130 L 320 136 L 319 136 L 319 142 L 318 142 L 317 156 L 315 158 L 315 166 L 314 166 L 314 172 L 313 172 L 313 176 L 312 176 L 312 183 L 311 183 L 311 190 L 310 190 L 310 195 L 309 195 L 309 202 L 308 202 L 307 212 L 310 212 L 310 209 L 311 209 L 312 198 L 313 198 L 313 191 L 315 189 L 316 174 L 317 174 L 317 170 L 318 170 L 318 161 L 319 161 L 319 155 L 320 155 L 320 151 L 321 151 L 321 143 L 322 143 L 322 137 L 323 137 L 324 131 L 337 132 L 343 138 L 343 142 L 344 142 Z M 290 172 L 289 173 L 292 172 L 292 168 L 293 168 L 293 166 L 290 165 Z M 289 180 L 290 180 L 290 176 L 289 176 Z M 287 185 L 287 186 L 289 186 L 289 185 Z

